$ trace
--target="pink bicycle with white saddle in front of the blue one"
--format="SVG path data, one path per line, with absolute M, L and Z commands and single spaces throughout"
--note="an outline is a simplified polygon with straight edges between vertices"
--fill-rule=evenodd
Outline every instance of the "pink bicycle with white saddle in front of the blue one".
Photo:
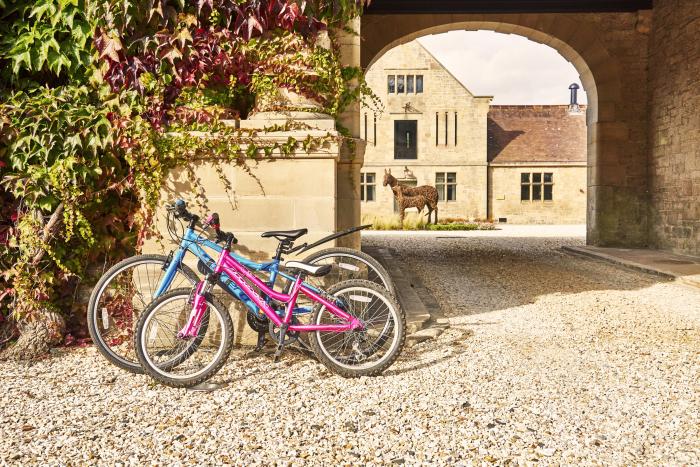
M 371 281 L 349 280 L 324 291 L 304 279 L 323 277 L 331 265 L 288 261 L 285 268 L 295 280 L 278 292 L 230 254 L 232 243 L 237 242 L 233 234 L 219 230 L 217 234 L 225 247 L 214 271 L 194 289 L 160 296 L 138 321 L 136 354 L 155 380 L 172 387 L 195 386 L 226 363 L 233 347 L 233 324 L 227 307 L 213 294 L 222 277 L 235 282 L 269 319 L 270 334 L 277 342 L 275 360 L 303 332 L 310 333 L 309 343 L 318 360 L 344 377 L 376 376 L 396 360 L 405 341 L 405 317 L 385 288 Z M 268 233 L 280 242 L 296 234 Z M 297 305 L 300 296 L 305 297 L 304 306 Z

